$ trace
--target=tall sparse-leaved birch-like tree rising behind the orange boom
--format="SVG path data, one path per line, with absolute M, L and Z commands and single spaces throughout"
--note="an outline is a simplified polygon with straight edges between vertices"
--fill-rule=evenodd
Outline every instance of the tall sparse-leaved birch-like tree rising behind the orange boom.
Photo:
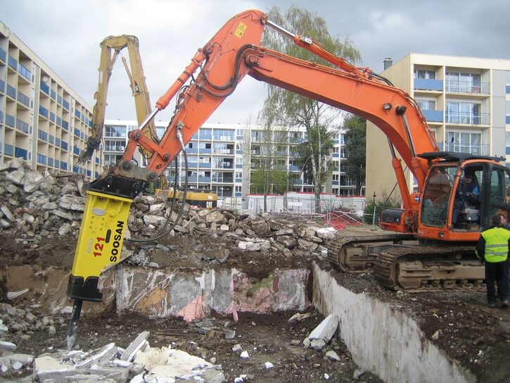
M 341 40 L 332 36 L 326 26 L 326 21 L 314 13 L 292 6 L 286 13 L 273 7 L 268 17 L 274 23 L 295 33 L 312 37 L 321 43 L 325 49 L 336 56 L 345 57 L 350 61 L 359 61 L 359 51 L 350 39 Z M 318 58 L 310 51 L 296 46 L 291 39 L 282 37 L 271 28 L 264 32 L 262 44 L 269 49 L 314 61 L 321 65 L 330 63 Z M 262 113 L 269 116 L 272 121 L 287 127 L 305 127 L 307 139 L 299 150 L 304 166 L 310 166 L 310 174 L 314 180 L 315 206 L 319 208 L 321 187 L 331 174 L 329 156 L 331 155 L 331 135 L 327 134 L 333 123 L 338 120 L 340 111 L 324 103 L 288 92 L 274 85 L 267 85 L 268 94 L 264 101 Z M 306 147 L 307 149 L 305 149 Z

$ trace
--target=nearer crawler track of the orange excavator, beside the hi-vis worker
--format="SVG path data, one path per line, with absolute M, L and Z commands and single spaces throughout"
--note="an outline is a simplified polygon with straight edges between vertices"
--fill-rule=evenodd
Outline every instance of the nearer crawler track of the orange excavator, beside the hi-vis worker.
M 385 287 L 405 291 L 479 288 L 483 264 L 473 246 L 417 246 L 385 249 L 374 264 L 374 277 Z

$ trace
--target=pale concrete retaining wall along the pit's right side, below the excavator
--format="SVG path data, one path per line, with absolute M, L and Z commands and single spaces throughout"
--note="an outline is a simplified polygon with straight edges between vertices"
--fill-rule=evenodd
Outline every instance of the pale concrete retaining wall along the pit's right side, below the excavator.
M 341 287 L 314 266 L 314 305 L 336 314 L 340 337 L 357 365 L 384 382 L 476 382 L 471 372 L 438 349 L 403 310 Z

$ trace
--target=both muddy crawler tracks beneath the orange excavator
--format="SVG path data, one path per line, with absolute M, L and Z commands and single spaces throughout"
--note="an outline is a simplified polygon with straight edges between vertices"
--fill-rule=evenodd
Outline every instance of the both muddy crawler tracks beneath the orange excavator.
M 393 290 L 409 292 L 481 287 L 483 264 L 473 246 L 421 244 L 409 234 L 336 238 L 327 243 L 330 263 L 344 272 L 373 272 Z

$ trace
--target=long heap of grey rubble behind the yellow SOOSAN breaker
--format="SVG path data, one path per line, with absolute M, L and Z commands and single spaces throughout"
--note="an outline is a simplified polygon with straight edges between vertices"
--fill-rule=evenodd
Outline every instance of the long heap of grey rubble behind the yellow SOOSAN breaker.
M 24 161 L 15 159 L 0 168 L 0 233 L 16 232 L 18 237 L 34 241 L 44 237 L 77 236 L 86 201 L 87 182 L 80 175 L 39 172 L 30 169 Z M 172 228 L 170 237 L 215 237 L 224 239 L 224 250 L 207 246 L 198 249 L 205 260 L 224 262 L 229 249 L 283 253 L 284 256 L 315 253 L 325 254 L 326 239 L 334 237 L 335 230 L 309 227 L 300 222 L 274 220 L 269 213 L 238 214 L 215 208 L 194 210 L 188 204 L 179 218 L 179 203 L 172 208 L 170 201 L 152 195 L 134 199 L 129 214 L 126 238 L 147 238 L 162 228 Z M 170 219 L 169 219 L 170 217 Z M 168 222 L 167 222 L 168 220 Z M 207 240 L 202 242 L 207 244 Z

